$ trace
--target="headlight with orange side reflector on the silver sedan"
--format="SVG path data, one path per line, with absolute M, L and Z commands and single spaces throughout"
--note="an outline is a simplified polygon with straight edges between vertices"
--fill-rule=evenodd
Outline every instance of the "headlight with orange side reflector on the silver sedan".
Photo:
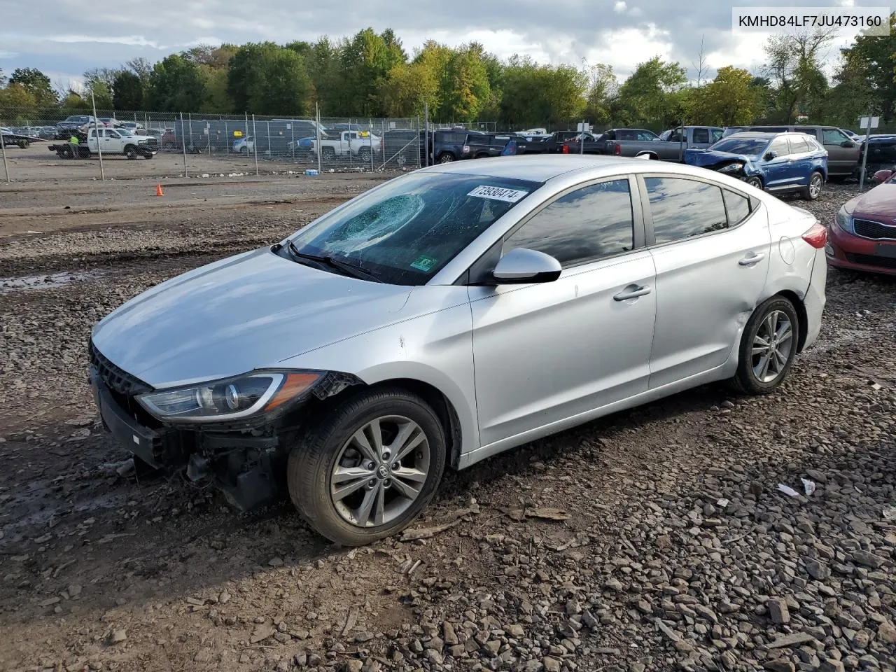
M 211 422 L 246 418 L 279 408 L 309 390 L 317 371 L 257 372 L 137 397 L 159 420 Z

